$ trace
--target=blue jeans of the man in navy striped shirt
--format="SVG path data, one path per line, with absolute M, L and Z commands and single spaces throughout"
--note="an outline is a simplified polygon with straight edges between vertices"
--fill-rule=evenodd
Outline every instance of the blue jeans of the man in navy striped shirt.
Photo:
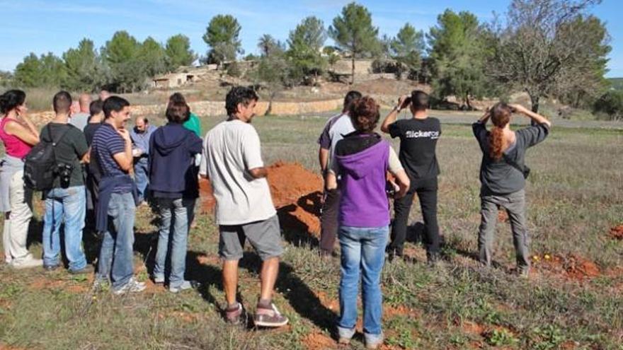
M 132 193 L 113 193 L 108 203 L 108 230 L 103 235 L 97 279 L 110 276 L 113 288 L 121 288 L 134 274 L 134 220 Z

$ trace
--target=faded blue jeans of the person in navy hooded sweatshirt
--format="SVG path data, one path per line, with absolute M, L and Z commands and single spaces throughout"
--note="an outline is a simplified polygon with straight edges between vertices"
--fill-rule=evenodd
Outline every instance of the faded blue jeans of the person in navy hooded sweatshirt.
M 171 287 L 177 287 L 184 281 L 188 224 L 193 221 L 195 199 L 161 198 L 158 204 L 160 208 L 161 224 L 158 237 L 158 250 L 156 251 L 154 279 L 164 277 L 166 257 L 170 255 L 171 275 L 169 276 L 168 283 Z

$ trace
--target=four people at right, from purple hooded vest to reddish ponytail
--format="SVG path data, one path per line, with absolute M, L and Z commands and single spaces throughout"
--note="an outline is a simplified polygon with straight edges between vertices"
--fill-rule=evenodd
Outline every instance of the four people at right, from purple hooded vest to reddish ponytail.
M 321 254 L 331 256 L 336 237 L 341 248 L 338 337 L 348 344 L 355 334 L 357 296 L 362 283 L 363 330 L 368 349 L 383 342 L 380 276 L 385 261 L 403 256 L 408 214 L 417 194 L 424 221 L 423 243 L 428 264 L 440 261 L 437 221 L 438 175 L 436 146 L 440 121 L 428 115 L 429 96 L 413 91 L 401 96 L 380 130 L 400 139 L 398 155 L 380 134 L 379 105 L 350 91 L 343 111 L 328 120 L 319 137 L 319 161 L 325 179 L 321 216 Z M 398 120 L 401 110 L 410 118 Z M 510 117 L 525 115 L 532 126 L 513 132 Z M 491 119 L 491 131 L 486 123 Z M 530 173 L 525 152 L 549 134 L 550 122 L 521 105 L 498 103 L 473 124 L 483 153 L 479 261 L 491 265 L 498 209 L 508 212 L 513 231 L 517 271 L 527 276 L 530 242 L 525 218 L 525 179 Z M 388 176 L 389 173 L 391 176 Z M 391 220 L 389 197 L 394 199 Z M 390 225 L 391 224 L 391 225 Z M 391 226 L 391 229 L 390 229 Z M 389 243 L 388 243 L 389 241 Z

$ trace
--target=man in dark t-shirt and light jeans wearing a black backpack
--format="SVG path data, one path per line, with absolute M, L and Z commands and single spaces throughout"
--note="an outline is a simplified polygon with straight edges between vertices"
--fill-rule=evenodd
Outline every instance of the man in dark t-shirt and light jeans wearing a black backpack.
M 43 267 L 48 271 L 62 263 L 60 226 L 64 223 L 65 256 L 69 260 L 69 272 L 87 274 L 93 272 L 82 249 L 85 200 L 82 165 L 88 158 L 88 146 L 84 134 L 69 121 L 72 96 L 61 91 L 54 96 L 52 105 L 56 116 L 43 127 L 40 138 L 56 142 L 55 160 L 57 176 L 52 189 L 45 192 L 45 216 L 43 219 Z

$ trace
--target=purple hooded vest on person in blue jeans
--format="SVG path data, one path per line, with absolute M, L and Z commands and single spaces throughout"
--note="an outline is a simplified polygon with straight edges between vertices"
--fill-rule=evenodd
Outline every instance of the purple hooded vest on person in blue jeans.
M 389 225 L 389 199 L 385 192 L 389 142 L 382 140 L 358 153 L 336 156 L 339 165 L 340 214 L 343 226 Z

